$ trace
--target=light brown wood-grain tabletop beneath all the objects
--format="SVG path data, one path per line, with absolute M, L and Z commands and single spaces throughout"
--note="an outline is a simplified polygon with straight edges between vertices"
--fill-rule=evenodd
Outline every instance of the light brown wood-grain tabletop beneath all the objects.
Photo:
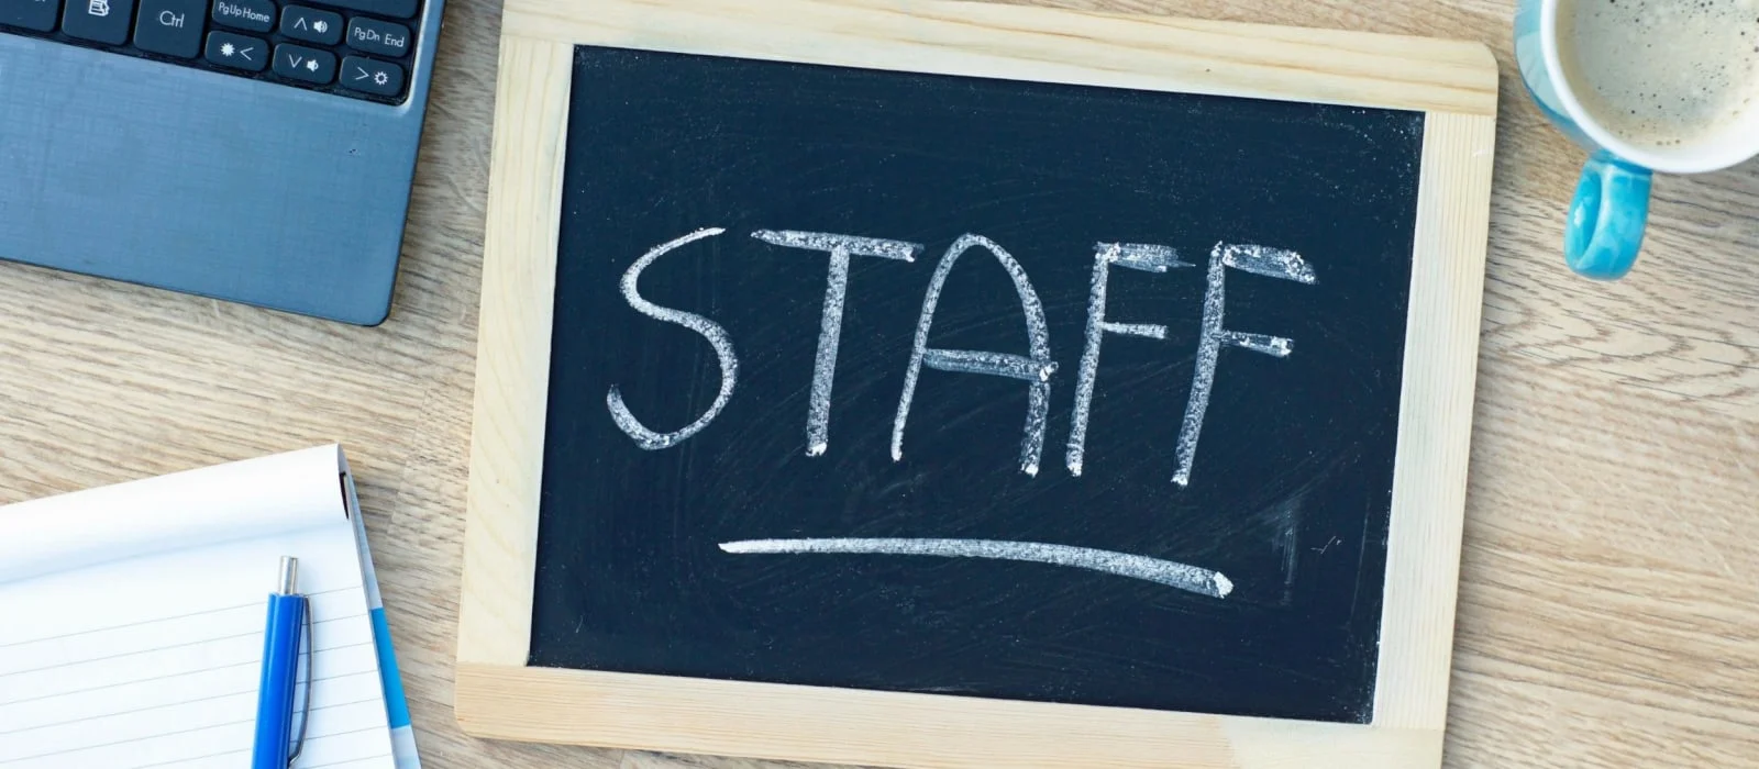
M 1448 765 L 1759 765 L 1759 163 L 1659 179 L 1638 270 L 1588 283 L 1557 253 L 1581 153 L 1522 90 L 1513 0 L 1073 5 L 1492 46 L 1502 114 Z M 341 441 L 427 767 L 774 765 L 454 725 L 498 16 L 449 0 L 383 327 L 0 265 L 0 502 Z

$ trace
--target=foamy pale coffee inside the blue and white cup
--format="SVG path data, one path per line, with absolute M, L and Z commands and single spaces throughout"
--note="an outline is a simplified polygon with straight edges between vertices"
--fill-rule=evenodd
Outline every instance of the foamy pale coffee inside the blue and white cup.
M 1564 0 L 1558 54 L 1583 109 L 1657 147 L 1741 123 L 1759 100 L 1759 0 Z

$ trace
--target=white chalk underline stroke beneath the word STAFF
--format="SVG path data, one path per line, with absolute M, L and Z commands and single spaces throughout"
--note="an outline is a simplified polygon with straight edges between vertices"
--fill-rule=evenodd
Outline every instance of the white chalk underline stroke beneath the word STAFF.
M 721 550 L 734 555 L 843 553 L 1022 560 L 1147 579 L 1212 599 L 1226 599 L 1233 592 L 1233 581 L 1217 571 L 1173 560 L 1149 558 L 1147 555 L 1047 543 L 1004 543 L 996 539 L 742 539 L 737 543 L 721 543 Z

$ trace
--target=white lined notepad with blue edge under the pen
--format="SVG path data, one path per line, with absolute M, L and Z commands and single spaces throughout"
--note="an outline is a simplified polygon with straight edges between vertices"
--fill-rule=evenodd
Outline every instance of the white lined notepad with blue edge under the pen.
M 338 446 L 0 507 L 0 767 L 248 765 L 283 555 L 313 622 L 294 765 L 413 767 L 364 534 Z

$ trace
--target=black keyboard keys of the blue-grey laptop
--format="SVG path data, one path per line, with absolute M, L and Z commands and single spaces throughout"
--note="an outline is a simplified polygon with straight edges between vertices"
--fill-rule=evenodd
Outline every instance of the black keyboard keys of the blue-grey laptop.
M 338 93 L 408 95 L 420 0 L 0 0 L 0 33 Z

